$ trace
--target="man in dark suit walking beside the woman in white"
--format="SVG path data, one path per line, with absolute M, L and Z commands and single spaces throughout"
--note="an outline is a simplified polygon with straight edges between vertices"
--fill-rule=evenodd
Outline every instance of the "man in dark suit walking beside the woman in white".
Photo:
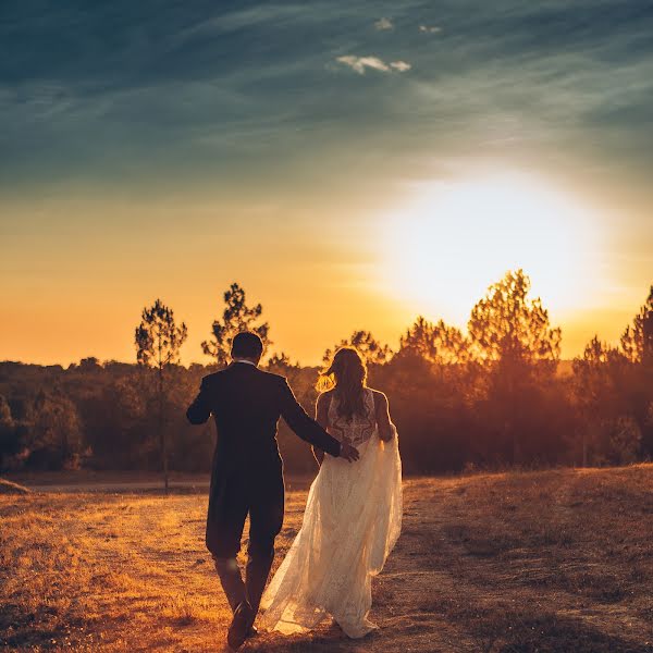
M 332 456 L 358 459 L 358 451 L 331 438 L 297 403 L 283 377 L 258 369 L 263 344 L 256 333 L 238 333 L 233 362 L 201 381 L 186 416 L 202 424 L 212 415 L 218 428 L 213 454 L 207 547 L 234 613 L 227 641 L 238 649 L 255 632 L 254 620 L 283 522 L 283 465 L 276 446 L 280 416 L 301 438 Z M 236 563 L 245 518 L 249 545 L 243 582 Z

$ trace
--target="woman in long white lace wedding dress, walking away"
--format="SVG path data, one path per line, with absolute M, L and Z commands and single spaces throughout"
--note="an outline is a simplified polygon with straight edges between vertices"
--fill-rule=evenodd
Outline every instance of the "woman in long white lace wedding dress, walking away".
M 343 347 L 320 380 L 318 422 L 360 459 L 315 452 L 320 471 L 301 529 L 262 599 L 269 630 L 304 632 L 328 616 L 350 638 L 378 628 L 368 619 L 371 579 L 399 537 L 402 461 L 387 398 L 366 379 L 358 352 Z

